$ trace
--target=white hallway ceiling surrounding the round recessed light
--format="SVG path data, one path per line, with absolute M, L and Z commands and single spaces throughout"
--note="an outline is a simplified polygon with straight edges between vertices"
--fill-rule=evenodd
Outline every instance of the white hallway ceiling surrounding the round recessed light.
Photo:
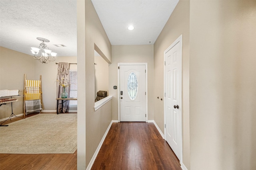
M 112 45 L 154 44 L 178 0 L 92 0 Z M 134 30 L 128 30 L 134 25 Z

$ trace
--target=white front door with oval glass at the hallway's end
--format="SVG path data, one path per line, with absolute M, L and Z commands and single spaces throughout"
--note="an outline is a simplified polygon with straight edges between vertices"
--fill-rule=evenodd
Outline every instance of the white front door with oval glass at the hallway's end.
M 146 121 L 146 66 L 120 65 L 120 121 Z

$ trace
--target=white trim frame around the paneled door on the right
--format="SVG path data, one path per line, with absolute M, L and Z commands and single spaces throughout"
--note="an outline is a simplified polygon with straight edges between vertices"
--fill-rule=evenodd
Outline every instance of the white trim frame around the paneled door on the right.
M 180 164 L 182 164 L 182 148 L 183 148 L 183 141 L 182 141 L 182 35 L 180 35 L 173 43 L 170 45 L 165 51 L 164 51 L 164 61 L 165 61 L 165 55 L 166 53 L 172 49 L 177 43 L 180 42 Z M 166 79 L 165 79 L 165 70 L 166 66 L 164 64 L 164 94 L 165 94 L 165 84 L 166 84 Z M 166 125 L 166 100 L 164 100 L 164 125 Z M 164 127 L 164 139 L 166 140 L 166 128 Z

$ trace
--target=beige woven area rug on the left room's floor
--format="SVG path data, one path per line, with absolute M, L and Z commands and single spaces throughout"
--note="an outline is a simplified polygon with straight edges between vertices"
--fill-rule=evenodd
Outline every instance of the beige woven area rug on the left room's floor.
M 77 148 L 77 114 L 38 114 L 0 127 L 0 153 L 72 154 Z

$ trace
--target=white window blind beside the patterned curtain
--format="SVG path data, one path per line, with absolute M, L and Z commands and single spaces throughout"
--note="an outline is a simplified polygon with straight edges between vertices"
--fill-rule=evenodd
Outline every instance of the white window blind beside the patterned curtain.
M 77 70 L 69 70 L 70 98 L 77 98 Z M 70 100 L 69 105 L 77 105 L 77 100 Z

